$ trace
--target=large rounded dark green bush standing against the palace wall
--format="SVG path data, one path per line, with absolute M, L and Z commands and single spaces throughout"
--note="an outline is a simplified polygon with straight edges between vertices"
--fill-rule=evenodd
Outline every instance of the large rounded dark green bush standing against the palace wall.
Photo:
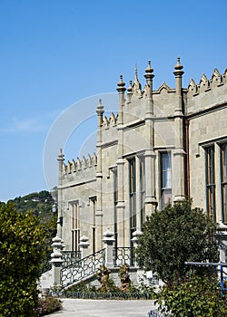
M 186 261 L 218 261 L 212 241 L 216 225 L 192 201 L 168 205 L 147 217 L 137 248 L 137 261 L 145 270 L 159 274 L 165 283 L 183 280 L 191 269 Z M 195 271 L 198 274 L 198 267 Z

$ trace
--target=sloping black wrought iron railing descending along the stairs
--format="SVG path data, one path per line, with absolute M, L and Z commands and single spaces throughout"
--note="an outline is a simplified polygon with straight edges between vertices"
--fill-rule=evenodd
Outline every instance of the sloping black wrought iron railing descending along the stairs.
M 64 266 L 61 269 L 62 287 L 64 288 L 94 275 L 100 265 L 104 265 L 104 249 L 95 252 L 93 255 L 88 255 L 74 264 Z

